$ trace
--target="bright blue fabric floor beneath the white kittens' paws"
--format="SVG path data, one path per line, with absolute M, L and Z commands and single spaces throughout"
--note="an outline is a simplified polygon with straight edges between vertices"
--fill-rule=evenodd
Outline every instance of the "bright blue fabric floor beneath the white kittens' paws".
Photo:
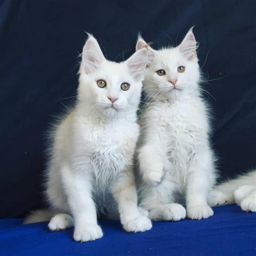
M 73 230 L 50 232 L 47 223 L 21 225 L 0 220 L 0 255 L 256 255 L 256 213 L 238 206 L 214 207 L 206 220 L 154 222 L 145 233 L 122 230 L 118 221 L 102 220 L 103 238 L 73 241 Z

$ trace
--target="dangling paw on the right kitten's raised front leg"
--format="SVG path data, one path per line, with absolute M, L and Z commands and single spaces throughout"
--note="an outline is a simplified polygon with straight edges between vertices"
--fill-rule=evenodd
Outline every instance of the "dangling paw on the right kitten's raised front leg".
M 164 168 L 162 164 L 154 164 L 145 170 L 143 178 L 144 180 L 153 186 L 158 186 L 162 181 L 164 174 Z

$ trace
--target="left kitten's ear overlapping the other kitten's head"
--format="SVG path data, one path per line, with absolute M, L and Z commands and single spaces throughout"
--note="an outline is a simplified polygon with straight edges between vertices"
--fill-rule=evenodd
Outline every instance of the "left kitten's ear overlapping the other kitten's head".
M 143 73 L 148 64 L 148 52 L 146 48 L 142 48 L 135 52 L 127 61 L 129 73 L 137 81 L 141 81 L 144 77 Z

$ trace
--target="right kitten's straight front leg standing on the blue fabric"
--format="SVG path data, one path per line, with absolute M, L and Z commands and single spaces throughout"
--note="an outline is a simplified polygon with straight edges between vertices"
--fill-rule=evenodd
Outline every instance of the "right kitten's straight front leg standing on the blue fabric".
M 210 179 L 213 176 L 213 164 L 207 155 L 196 156 L 188 169 L 186 204 L 187 217 L 201 220 L 213 215 L 211 207 L 207 204 L 207 195 L 210 191 Z

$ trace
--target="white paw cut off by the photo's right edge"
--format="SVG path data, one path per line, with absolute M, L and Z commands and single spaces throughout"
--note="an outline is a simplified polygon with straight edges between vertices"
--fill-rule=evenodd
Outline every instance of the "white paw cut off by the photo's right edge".
M 237 188 L 234 192 L 237 205 L 240 205 L 243 211 L 256 212 L 256 189 L 252 185 L 244 185 Z

